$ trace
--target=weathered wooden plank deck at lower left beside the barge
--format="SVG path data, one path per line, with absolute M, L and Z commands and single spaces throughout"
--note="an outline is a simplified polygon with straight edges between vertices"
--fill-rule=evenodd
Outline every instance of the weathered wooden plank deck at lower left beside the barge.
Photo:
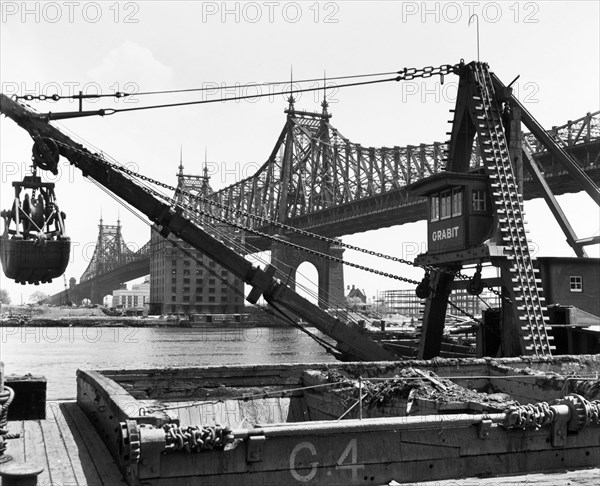
M 40 486 L 126 486 L 102 439 L 75 401 L 48 402 L 45 420 L 8 423 L 20 439 L 7 441 L 16 461 L 44 467 Z

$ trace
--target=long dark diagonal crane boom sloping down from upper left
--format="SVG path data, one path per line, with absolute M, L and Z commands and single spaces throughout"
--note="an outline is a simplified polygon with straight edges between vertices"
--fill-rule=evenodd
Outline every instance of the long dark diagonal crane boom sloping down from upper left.
M 337 349 L 345 359 L 397 360 L 398 357 L 383 345 L 361 333 L 357 327 L 341 321 L 298 295 L 273 277 L 274 268 L 261 269 L 242 255 L 204 231 L 186 218 L 181 208 L 172 208 L 150 194 L 144 187 L 113 168 L 99 156 L 62 133 L 48 122 L 47 117 L 35 113 L 4 94 L 0 94 L 0 112 L 26 130 L 39 144 L 51 139 L 59 153 L 77 167 L 85 177 L 91 177 L 125 203 L 145 214 L 158 225 L 164 237 L 173 234 L 208 255 L 246 284 L 252 286 L 247 300 L 255 303 L 262 295 L 276 309 L 301 317 L 337 342 Z

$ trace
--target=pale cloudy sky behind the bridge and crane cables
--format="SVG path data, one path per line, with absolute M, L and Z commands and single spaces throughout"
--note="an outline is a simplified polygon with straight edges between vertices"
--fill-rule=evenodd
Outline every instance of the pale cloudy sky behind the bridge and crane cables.
M 0 84 L 7 95 L 147 92 L 398 71 L 466 62 L 478 56 L 544 126 L 600 109 L 600 13 L 596 1 L 548 2 L 21 2 L 2 1 Z M 469 17 L 476 14 L 471 25 Z M 331 123 L 363 146 L 444 141 L 456 79 L 439 78 L 332 89 Z M 334 82 L 330 85 L 335 86 Z M 316 87 L 314 83 L 312 86 Z M 266 92 L 267 88 L 260 88 Z M 231 89 L 226 96 L 252 94 Z M 125 108 L 217 98 L 216 92 L 132 96 L 85 102 L 84 109 Z M 322 93 L 296 95 L 296 107 L 320 111 Z M 41 112 L 72 111 L 72 100 L 30 102 Z M 285 123 L 285 96 L 117 113 L 60 123 L 103 153 L 154 179 L 176 184 L 180 148 L 186 173 L 209 163 L 213 189 L 253 174 L 268 158 Z M 0 120 L 0 206 L 12 204 L 13 180 L 28 170 L 32 141 L 11 120 Z M 84 180 L 67 161 L 56 183 L 73 241 L 67 278 L 89 263 L 100 216 L 120 218 L 132 248 L 149 227 Z M 584 193 L 559 197 L 578 237 L 599 234 L 598 207 Z M 543 200 L 525 211 L 536 255 L 571 256 Z M 358 233 L 343 241 L 412 259 L 425 250 L 424 222 Z M 587 247 L 599 256 L 599 245 Z M 420 279 L 420 271 L 346 251 L 349 261 Z M 306 273 L 305 265 L 301 269 Z M 314 269 L 307 272 L 314 279 Z M 372 298 L 407 288 L 397 280 L 345 269 L 347 285 Z M 26 302 L 51 284 L 20 286 L 0 276 L 13 302 Z

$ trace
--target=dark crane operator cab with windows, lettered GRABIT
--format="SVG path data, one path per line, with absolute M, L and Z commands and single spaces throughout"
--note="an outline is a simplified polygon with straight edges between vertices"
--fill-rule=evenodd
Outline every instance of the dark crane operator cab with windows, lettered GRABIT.
M 494 232 L 487 176 L 479 172 L 441 172 L 412 184 L 411 194 L 428 203 L 429 254 L 481 245 Z

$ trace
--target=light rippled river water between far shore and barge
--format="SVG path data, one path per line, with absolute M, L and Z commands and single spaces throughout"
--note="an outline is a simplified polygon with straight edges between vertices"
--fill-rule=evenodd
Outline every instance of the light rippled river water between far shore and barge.
M 5 374 L 45 376 L 49 400 L 75 398 L 78 368 L 335 361 L 306 334 L 288 327 L 4 327 L 0 336 Z

